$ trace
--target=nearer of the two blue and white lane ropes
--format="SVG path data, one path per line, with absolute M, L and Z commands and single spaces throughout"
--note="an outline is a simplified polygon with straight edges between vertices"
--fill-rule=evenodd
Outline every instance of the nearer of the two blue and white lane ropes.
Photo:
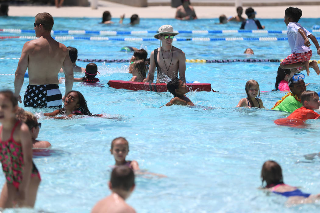
M 2 36 L 0 39 L 36 39 L 36 36 Z M 66 41 L 66 40 L 94 40 L 94 41 L 130 41 L 130 42 L 142 42 L 142 41 L 158 41 L 155 38 L 117 38 L 117 37 L 99 37 L 99 36 L 54 36 L 53 39 Z M 316 37 L 320 39 L 320 37 Z M 174 38 L 173 41 L 194 41 L 194 42 L 210 42 L 210 41 L 286 41 L 287 37 L 257 37 L 257 38 L 243 38 L 243 37 L 226 37 L 226 38 L 209 38 L 209 37 L 197 37 L 197 38 Z

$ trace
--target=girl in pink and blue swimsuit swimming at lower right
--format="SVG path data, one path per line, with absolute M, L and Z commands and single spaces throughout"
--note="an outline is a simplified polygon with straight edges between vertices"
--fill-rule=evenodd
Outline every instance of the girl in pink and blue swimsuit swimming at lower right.
M 297 187 L 284 184 L 282 169 L 275 161 L 269 160 L 262 165 L 261 179 L 262 185 L 266 182 L 266 186 L 262 186 L 263 189 L 288 197 L 287 203 L 289 204 L 311 203 L 320 197 L 320 194 L 303 193 Z

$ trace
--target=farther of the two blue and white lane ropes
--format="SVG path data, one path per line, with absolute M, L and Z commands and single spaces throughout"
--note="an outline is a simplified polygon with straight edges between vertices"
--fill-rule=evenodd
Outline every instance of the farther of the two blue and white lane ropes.
M 34 30 L 22 29 L 0 29 L 0 33 L 35 33 Z M 174 31 L 180 34 L 230 34 L 230 33 L 252 33 L 252 34 L 286 34 L 286 30 L 180 30 Z M 320 32 L 320 29 L 309 30 L 309 32 Z M 108 30 L 52 30 L 51 34 L 68 34 L 68 35 L 85 35 L 85 34 L 99 34 L 99 35 L 138 35 L 138 34 L 155 34 L 158 31 L 140 30 L 140 31 L 108 31 Z

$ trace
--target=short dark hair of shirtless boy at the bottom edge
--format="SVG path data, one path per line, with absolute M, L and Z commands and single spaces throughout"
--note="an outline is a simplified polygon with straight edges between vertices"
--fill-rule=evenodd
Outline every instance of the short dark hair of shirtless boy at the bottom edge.
M 134 173 L 128 166 L 117 166 L 111 172 L 112 189 L 123 189 L 129 191 L 134 186 Z

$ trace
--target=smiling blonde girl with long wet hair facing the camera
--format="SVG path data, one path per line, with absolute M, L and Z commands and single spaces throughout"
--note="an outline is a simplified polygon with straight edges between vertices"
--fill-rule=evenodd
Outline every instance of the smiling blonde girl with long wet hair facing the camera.
M 248 106 L 264 108 L 263 103 L 260 99 L 260 87 L 257 81 L 248 80 L 245 84 L 245 92 L 247 93 L 247 97 L 242 98 L 236 107 Z

